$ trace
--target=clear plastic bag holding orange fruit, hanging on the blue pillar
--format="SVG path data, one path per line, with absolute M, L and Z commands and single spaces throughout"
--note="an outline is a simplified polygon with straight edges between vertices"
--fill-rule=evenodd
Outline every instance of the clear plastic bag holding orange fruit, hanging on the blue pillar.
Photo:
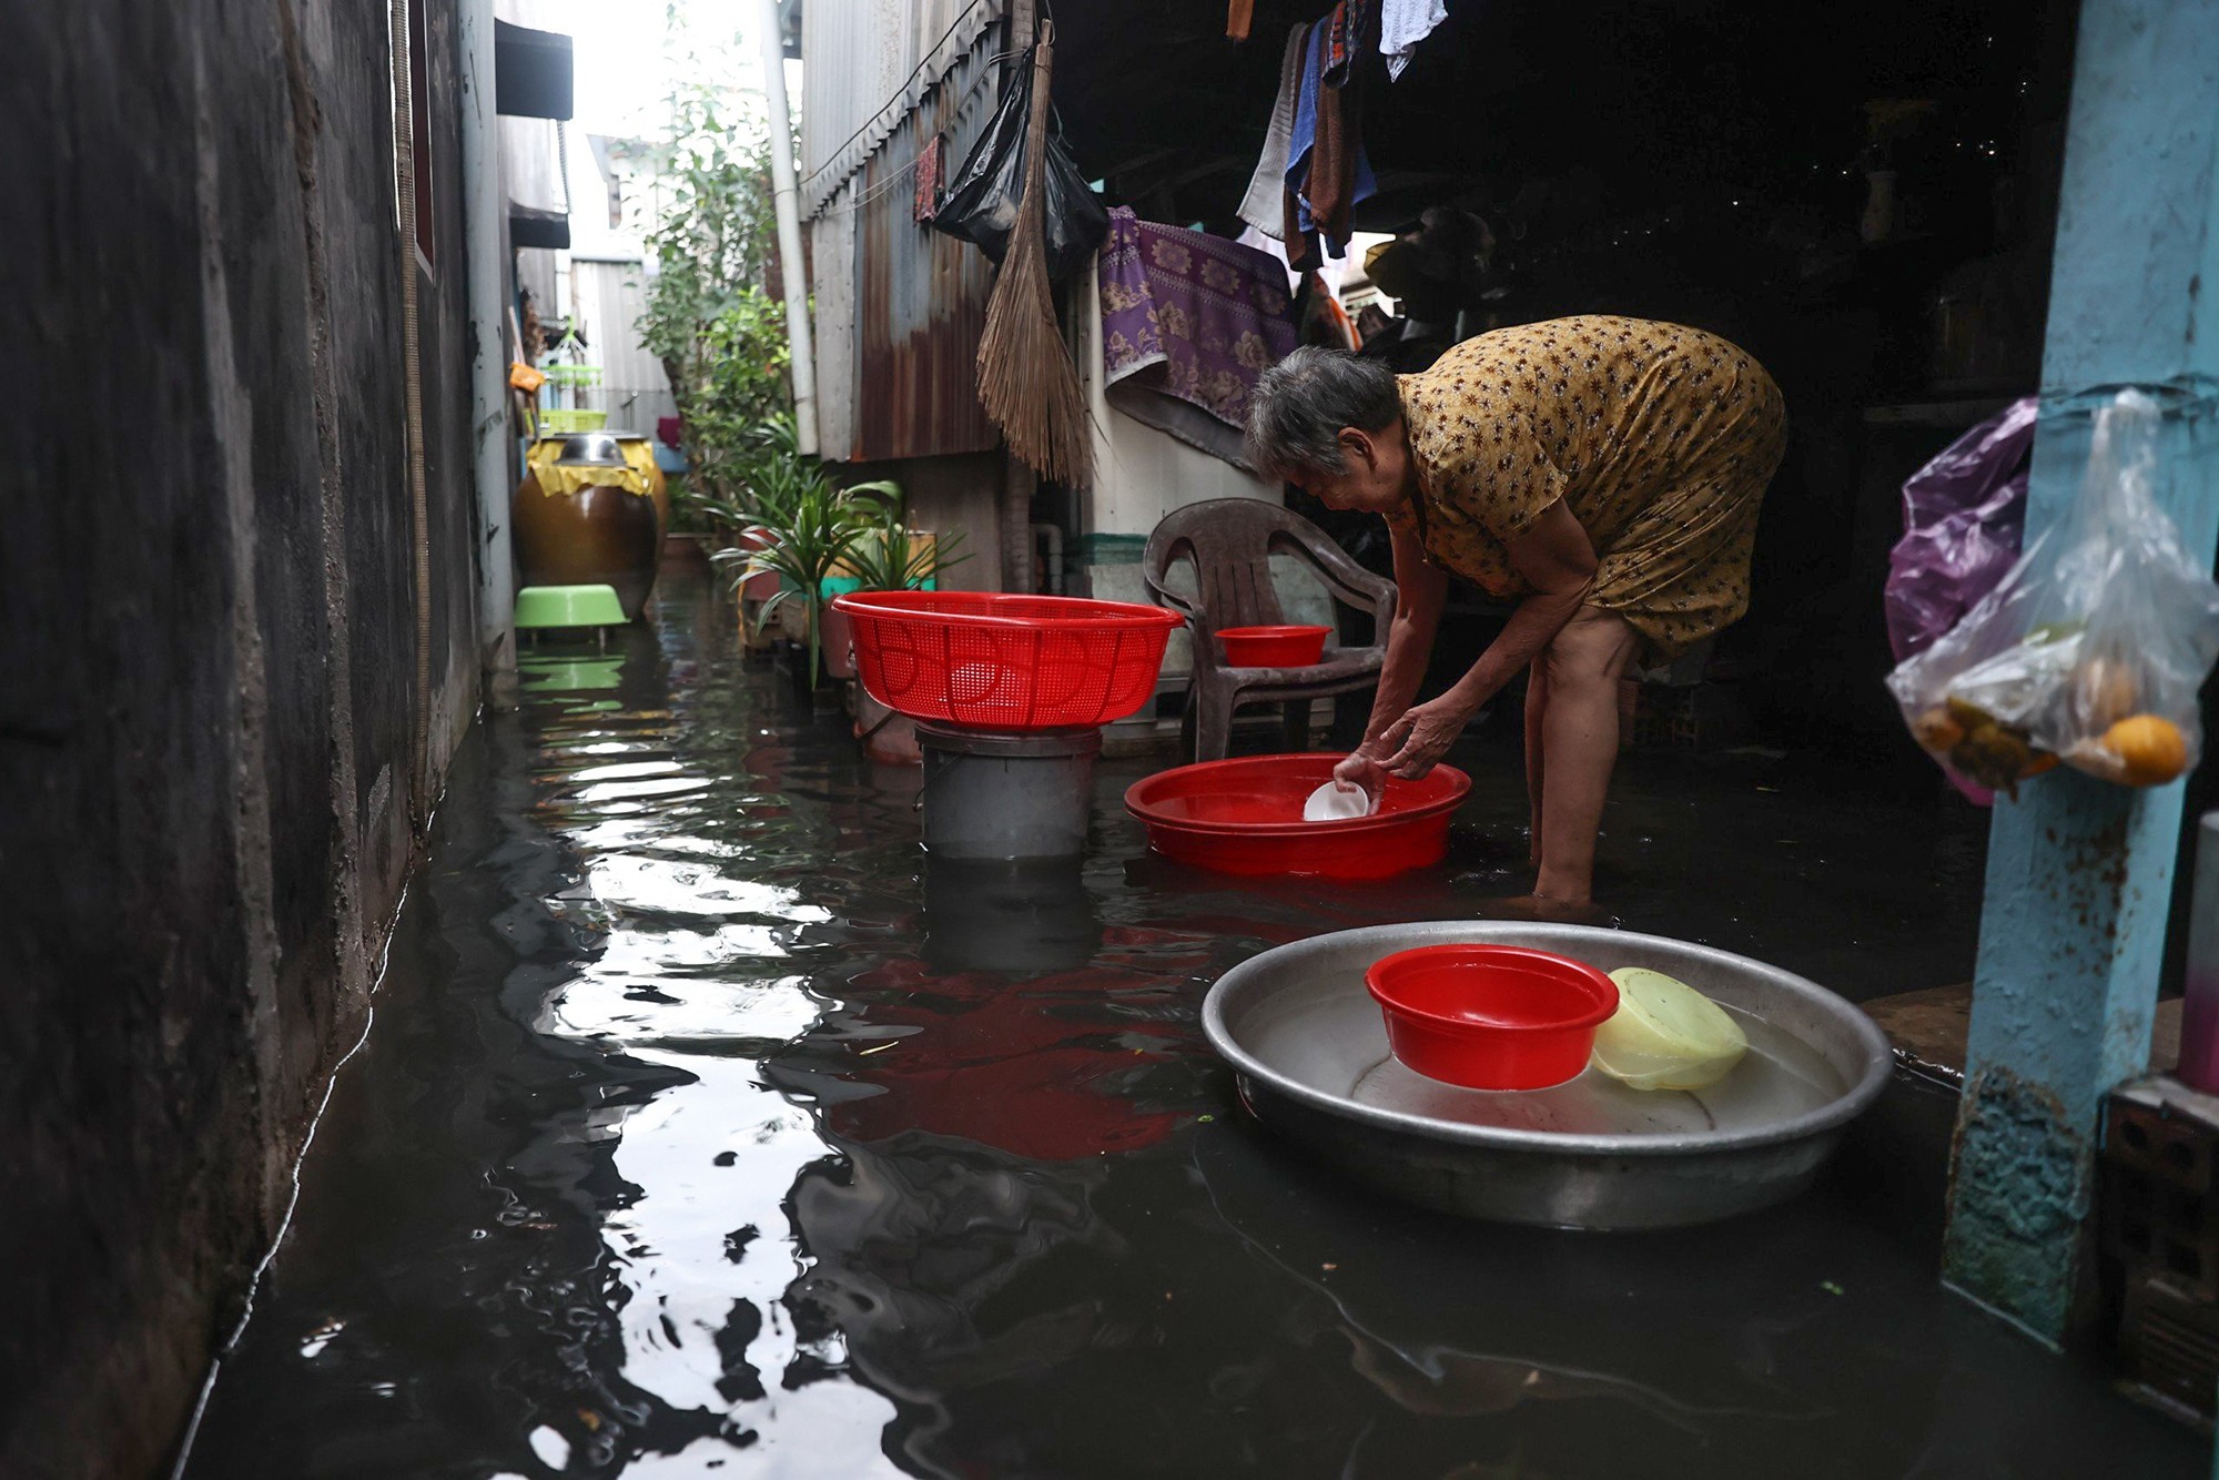
M 2219 584 L 2157 506 L 2157 402 L 2097 410 L 2070 513 L 1888 690 L 1944 766 L 2017 794 L 2066 761 L 2161 785 L 2201 752 L 2197 690 L 2219 659 Z

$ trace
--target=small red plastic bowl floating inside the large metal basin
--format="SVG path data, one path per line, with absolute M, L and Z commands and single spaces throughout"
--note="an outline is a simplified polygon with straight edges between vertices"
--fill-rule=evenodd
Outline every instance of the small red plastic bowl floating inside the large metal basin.
M 1547 1089 L 1578 1078 L 1618 983 L 1522 945 L 1420 945 L 1365 972 L 1405 1065 L 1467 1089 Z

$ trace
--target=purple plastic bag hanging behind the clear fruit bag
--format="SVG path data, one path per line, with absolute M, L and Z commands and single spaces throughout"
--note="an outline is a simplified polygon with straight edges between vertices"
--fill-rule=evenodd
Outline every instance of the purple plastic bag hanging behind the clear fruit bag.
M 1924 652 L 2019 559 L 2037 399 L 2013 402 L 1904 481 L 1904 537 L 1888 553 L 1888 646 Z

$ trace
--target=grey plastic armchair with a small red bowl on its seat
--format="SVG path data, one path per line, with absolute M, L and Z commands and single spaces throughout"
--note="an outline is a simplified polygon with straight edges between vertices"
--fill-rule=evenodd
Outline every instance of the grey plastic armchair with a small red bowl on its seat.
M 1227 668 L 1218 628 L 1285 621 L 1271 586 L 1271 555 L 1294 555 L 1336 601 L 1369 608 L 1374 643 L 1340 648 L 1329 637 L 1325 661 L 1309 668 Z M 1169 575 L 1181 561 L 1194 566 L 1194 597 L 1169 588 Z M 1172 510 L 1147 537 L 1141 575 L 1156 604 L 1181 612 L 1194 635 L 1185 728 L 1194 734 L 1196 761 L 1225 759 L 1234 710 L 1243 703 L 1285 706 L 1287 746 L 1307 750 L 1314 699 L 1378 686 L 1387 628 L 1394 621 L 1394 581 L 1358 566 L 1298 513 L 1260 499 L 1209 499 Z

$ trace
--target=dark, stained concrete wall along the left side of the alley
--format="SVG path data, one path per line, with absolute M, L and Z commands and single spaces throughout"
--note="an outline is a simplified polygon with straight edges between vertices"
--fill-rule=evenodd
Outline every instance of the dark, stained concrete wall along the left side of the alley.
M 9 7 L 11 1478 L 173 1449 L 475 706 L 455 29 L 426 2 L 428 692 L 386 9 Z

